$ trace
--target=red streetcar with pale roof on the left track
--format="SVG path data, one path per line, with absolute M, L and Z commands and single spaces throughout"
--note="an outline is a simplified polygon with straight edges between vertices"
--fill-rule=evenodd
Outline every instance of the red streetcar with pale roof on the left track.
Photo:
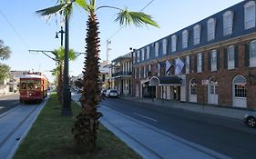
M 42 102 L 47 96 L 48 79 L 39 72 L 25 73 L 20 77 L 19 101 Z

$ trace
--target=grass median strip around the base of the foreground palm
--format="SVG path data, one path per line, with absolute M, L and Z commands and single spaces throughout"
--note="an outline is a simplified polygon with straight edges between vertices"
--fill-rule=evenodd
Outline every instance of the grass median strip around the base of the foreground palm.
M 77 116 L 80 107 L 76 103 L 71 106 L 74 116 Z M 14 159 L 141 159 L 103 125 L 100 125 L 97 135 L 96 150 L 78 153 L 71 134 L 74 116 L 61 116 L 60 109 L 56 94 L 52 94 L 17 149 Z

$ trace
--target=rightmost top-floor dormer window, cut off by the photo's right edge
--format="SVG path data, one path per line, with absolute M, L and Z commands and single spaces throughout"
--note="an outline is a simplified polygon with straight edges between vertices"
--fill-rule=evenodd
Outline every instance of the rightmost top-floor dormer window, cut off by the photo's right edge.
M 250 1 L 244 5 L 244 28 L 255 27 L 255 1 Z

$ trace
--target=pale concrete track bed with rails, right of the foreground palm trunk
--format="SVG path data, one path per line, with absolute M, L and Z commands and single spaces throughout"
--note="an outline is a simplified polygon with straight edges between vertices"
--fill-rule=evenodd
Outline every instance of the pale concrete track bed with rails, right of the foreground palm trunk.
M 151 125 L 139 122 L 125 114 L 101 105 L 100 118 L 108 130 L 132 147 L 145 159 L 228 159 L 229 156 L 217 153 L 199 144 L 191 143 L 176 135 L 161 131 Z

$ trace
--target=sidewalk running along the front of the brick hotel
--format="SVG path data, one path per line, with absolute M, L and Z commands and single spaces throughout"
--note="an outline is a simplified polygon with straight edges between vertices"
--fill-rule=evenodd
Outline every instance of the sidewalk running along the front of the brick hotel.
M 191 104 L 191 103 L 183 103 L 179 101 L 166 101 L 166 100 L 152 100 L 151 98 L 138 98 L 138 97 L 129 97 L 123 96 L 121 99 L 131 100 L 140 103 L 147 103 L 147 104 L 155 104 L 159 106 L 169 106 L 179 109 L 185 109 L 192 112 L 200 112 L 204 114 L 214 114 L 220 115 L 225 117 L 231 117 L 235 119 L 242 119 L 244 114 L 249 113 L 251 111 L 256 110 L 249 110 L 249 109 L 242 109 L 242 108 L 234 108 L 234 107 L 224 107 L 218 105 L 211 105 L 211 104 Z

